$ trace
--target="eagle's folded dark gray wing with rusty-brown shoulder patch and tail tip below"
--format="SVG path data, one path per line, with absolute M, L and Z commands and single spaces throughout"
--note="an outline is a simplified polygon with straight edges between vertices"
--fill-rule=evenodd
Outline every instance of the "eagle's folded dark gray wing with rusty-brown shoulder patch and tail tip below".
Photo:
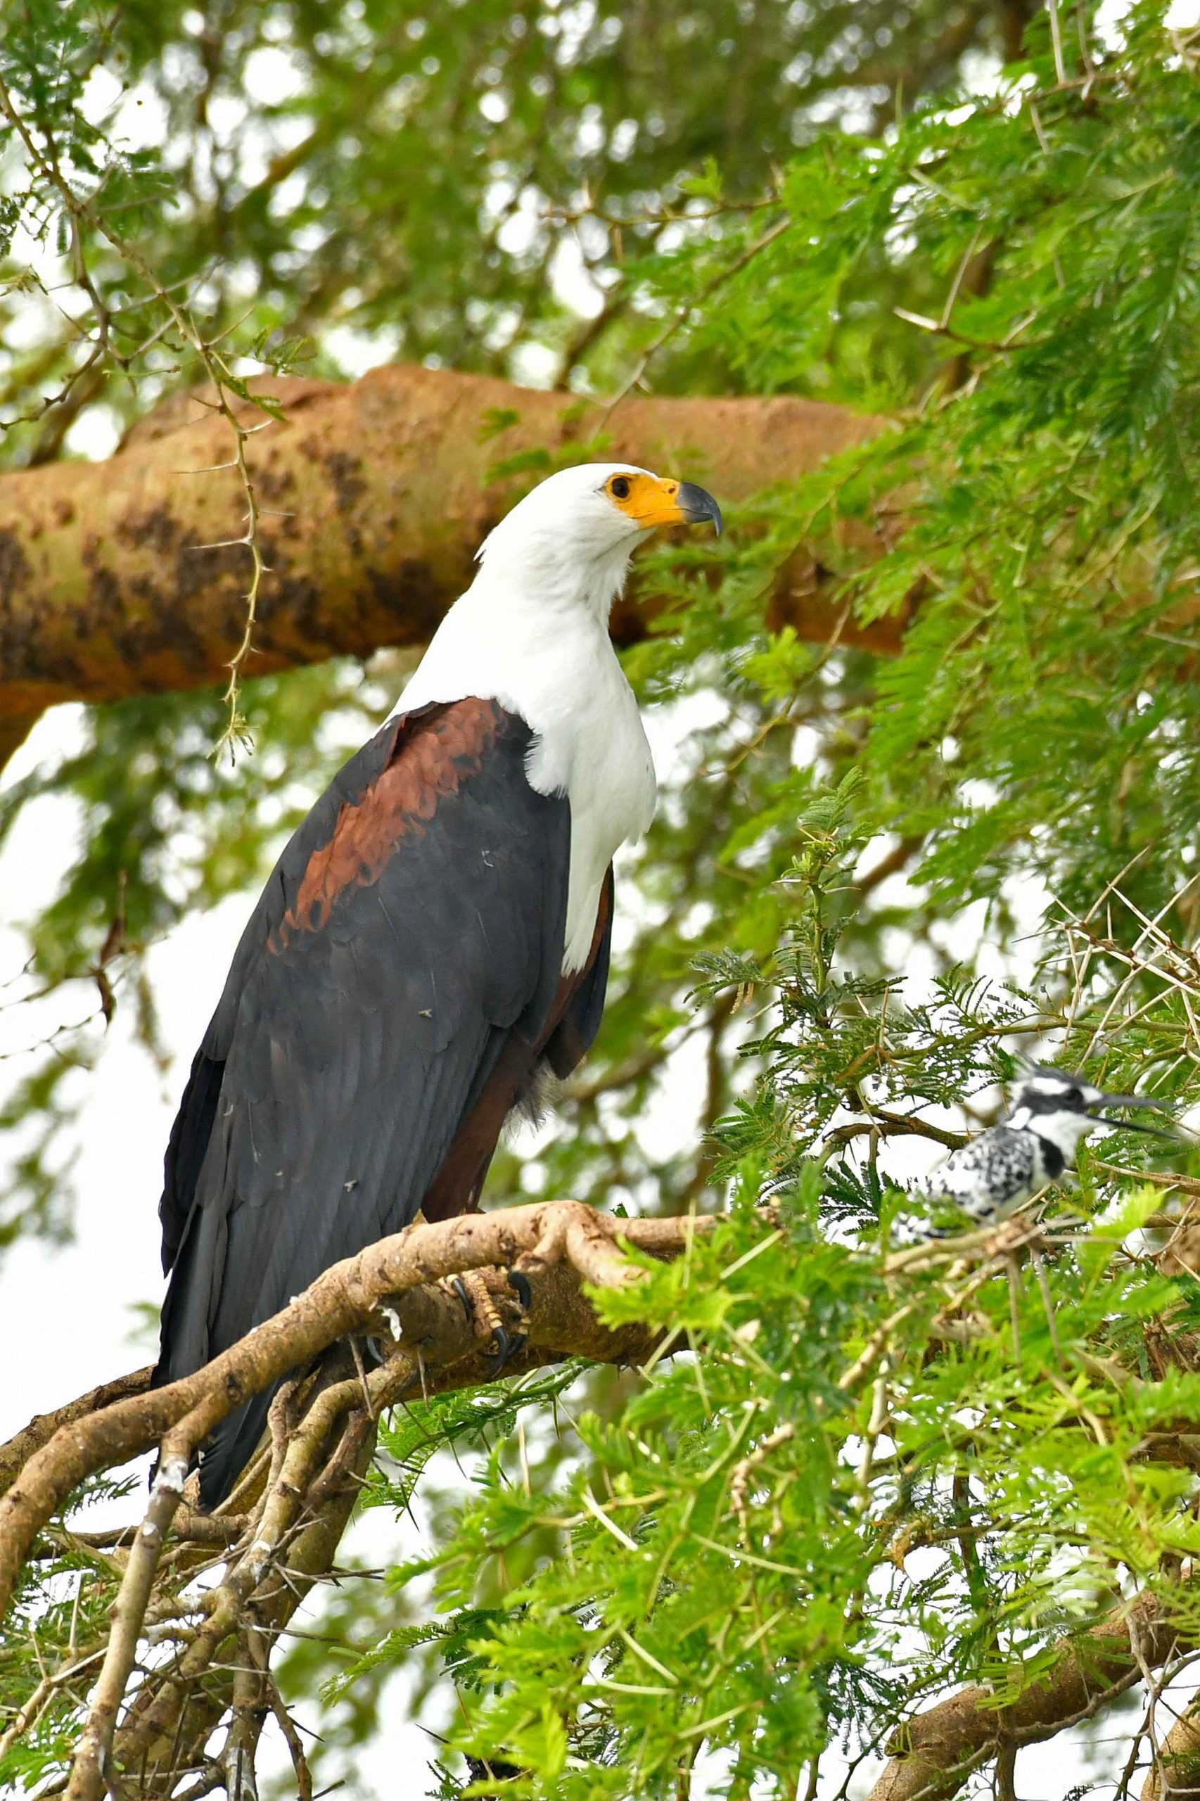
M 546 1039 L 571 832 L 528 744 L 494 701 L 391 720 L 279 857 L 171 1133 L 159 1381 L 407 1225 L 506 1043 Z M 267 1401 L 214 1434 L 209 1504 Z

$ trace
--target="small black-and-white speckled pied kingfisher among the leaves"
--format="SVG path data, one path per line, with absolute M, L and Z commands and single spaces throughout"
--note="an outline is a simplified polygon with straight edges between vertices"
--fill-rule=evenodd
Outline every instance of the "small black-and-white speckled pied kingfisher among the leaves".
M 1153 1126 L 1110 1120 L 1097 1108 L 1162 1108 L 1150 1095 L 1106 1095 L 1081 1075 L 1036 1068 L 1016 1084 L 1013 1111 L 1000 1126 L 951 1151 L 944 1163 L 912 1183 L 926 1199 L 955 1201 L 973 1219 L 1004 1219 L 1043 1189 L 1058 1181 L 1074 1162 L 1079 1140 L 1095 1126 L 1121 1131 L 1146 1131 Z

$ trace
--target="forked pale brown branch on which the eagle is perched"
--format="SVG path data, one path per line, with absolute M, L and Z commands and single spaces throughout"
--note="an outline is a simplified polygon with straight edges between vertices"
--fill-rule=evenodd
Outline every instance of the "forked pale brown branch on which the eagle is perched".
M 86 1722 L 76 1749 L 68 1801 L 101 1801 L 117 1761 L 160 1756 L 164 1742 L 178 1738 L 186 1713 L 187 1664 L 196 1675 L 211 1662 L 231 1632 L 256 1635 L 281 1630 L 295 1606 L 294 1567 L 297 1538 L 324 1524 L 324 1563 L 353 1506 L 355 1468 L 369 1459 L 378 1412 L 404 1394 L 468 1387 L 490 1374 L 476 1331 L 458 1297 L 441 1282 L 481 1272 L 499 1300 L 508 1293 L 508 1270 L 530 1282 L 532 1308 L 523 1353 L 506 1367 L 523 1369 L 584 1354 L 595 1362 L 645 1356 L 654 1333 L 641 1327 L 609 1331 L 589 1306 L 582 1284 L 614 1288 L 640 1279 L 625 1250 L 672 1257 L 690 1234 L 710 1230 L 706 1219 L 616 1219 L 578 1201 L 512 1207 L 492 1214 L 468 1214 L 436 1225 L 418 1223 L 382 1239 L 359 1257 L 326 1270 L 286 1309 L 256 1327 L 205 1369 L 166 1389 L 150 1390 L 148 1371 L 108 1383 L 70 1403 L 56 1416 L 32 1421 L 9 1444 L 0 1446 L 0 1608 L 7 1610 L 20 1572 L 36 1554 L 38 1534 L 50 1524 L 81 1480 L 99 1470 L 128 1462 L 160 1448 L 146 1516 L 124 1556 L 112 1630 L 88 1702 Z M 488 1309 L 492 1311 L 492 1309 Z M 204 1599 L 205 1619 L 193 1635 L 173 1680 L 146 1680 L 124 1709 L 121 1706 L 137 1661 L 139 1639 L 148 1626 L 155 1572 L 173 1522 L 187 1529 L 191 1515 L 180 1507 L 189 1461 L 209 1432 L 249 1396 L 290 1372 L 303 1371 L 321 1353 L 350 1333 L 369 1333 L 389 1344 L 391 1353 L 369 1374 L 359 1365 L 351 1376 L 321 1389 L 303 1421 L 288 1421 L 286 1408 L 295 1383 L 286 1383 L 272 1407 L 272 1446 L 259 1459 L 270 1471 L 258 1506 L 247 1516 L 240 1556 L 231 1560 L 225 1579 Z M 366 1407 L 364 1407 L 366 1403 Z M 350 1423 L 344 1425 L 350 1416 Z M 330 1435 L 341 1428 L 333 1453 Z M 324 1453 L 324 1462 L 323 1462 Z M 261 1468 L 258 1470 L 261 1486 Z M 245 1504 L 254 1484 L 254 1466 L 227 1507 Z M 330 1500 L 350 1497 L 328 1515 Z M 211 1538 L 196 1533 L 196 1538 Z M 290 1579 L 276 1569 L 286 1551 Z M 227 1551 L 225 1551 L 227 1554 Z M 323 1558 L 312 1574 L 321 1574 Z M 274 1588 L 272 1588 L 274 1579 Z M 268 1592 L 265 1592 L 268 1590 Z M 247 1614 L 254 1601 L 254 1619 Z M 272 1626 L 272 1606 L 276 1621 Z M 250 1662 L 254 1646 L 247 1644 Z M 227 1779 L 252 1769 L 252 1752 L 268 1707 L 277 1707 L 265 1657 L 261 1668 L 240 1677 L 247 1695 L 234 1697 L 234 1720 L 227 1738 Z M 218 1713 L 220 1718 L 220 1713 Z M 193 1704 L 189 1740 L 204 1743 L 216 1720 Z M 297 1769 L 297 1778 L 299 1778 Z M 232 1792 L 232 1790 L 231 1790 Z

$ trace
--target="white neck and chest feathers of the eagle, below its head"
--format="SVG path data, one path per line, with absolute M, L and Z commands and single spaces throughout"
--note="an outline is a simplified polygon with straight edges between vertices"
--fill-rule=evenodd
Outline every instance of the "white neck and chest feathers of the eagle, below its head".
M 497 603 L 499 602 L 499 603 Z M 564 974 L 587 962 L 614 852 L 654 818 L 654 762 L 605 623 L 580 605 L 526 603 L 481 576 L 450 607 L 395 711 L 477 695 L 533 731 L 539 794 L 571 807 Z

